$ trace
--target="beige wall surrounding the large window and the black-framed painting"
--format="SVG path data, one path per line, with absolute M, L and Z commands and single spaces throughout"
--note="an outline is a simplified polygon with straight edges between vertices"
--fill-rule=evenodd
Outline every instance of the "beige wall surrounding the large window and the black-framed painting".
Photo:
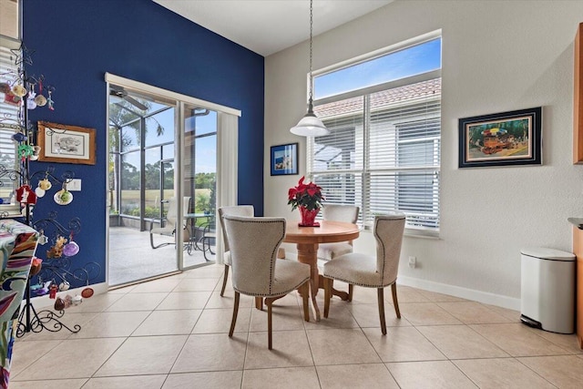
M 313 68 L 442 29 L 439 240 L 405 237 L 399 282 L 517 309 L 520 249 L 571 250 L 583 216 L 583 166 L 572 165 L 573 40 L 581 1 L 397 1 L 314 37 Z M 287 189 L 305 172 L 308 46 L 265 61 L 265 214 L 292 214 Z M 543 166 L 457 169 L 458 118 L 543 107 Z M 271 177 L 270 146 L 300 142 L 300 176 Z M 292 246 L 286 247 L 293 251 Z M 363 232 L 356 251 L 373 254 Z M 418 267 L 407 267 L 407 257 Z

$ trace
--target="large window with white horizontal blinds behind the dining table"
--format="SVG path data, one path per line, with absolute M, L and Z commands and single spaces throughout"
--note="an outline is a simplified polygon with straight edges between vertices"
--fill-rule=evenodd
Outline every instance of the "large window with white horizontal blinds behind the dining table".
M 404 58 L 412 50 L 416 61 L 435 61 L 427 59 L 435 55 L 423 56 L 423 48 L 433 52 L 436 46 L 440 48 L 440 38 L 384 57 Z M 440 56 L 437 59 L 440 62 Z M 316 115 L 331 133 L 308 138 L 308 175 L 322 186 L 326 202 L 360 206 L 365 227 L 372 225 L 374 215 L 398 210 L 406 214 L 410 233 L 439 231 L 441 71 L 434 67 L 413 64 L 413 74 L 373 86 L 374 74 L 356 84 L 343 80 L 346 68 L 324 75 L 329 80 L 337 77 L 344 87 L 314 103 Z M 418 68 L 430 71 L 417 74 Z M 376 71 L 385 73 L 383 68 Z M 358 87 L 358 82 L 363 83 L 360 89 L 345 87 Z

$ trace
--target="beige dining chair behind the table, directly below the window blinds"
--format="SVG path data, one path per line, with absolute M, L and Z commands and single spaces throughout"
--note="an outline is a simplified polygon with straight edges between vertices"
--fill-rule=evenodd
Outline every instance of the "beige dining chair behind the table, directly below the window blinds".
M 360 207 L 351 204 L 327 204 L 322 210 L 323 220 L 344 221 L 356 223 Z M 353 241 L 339 241 L 335 243 L 320 243 L 318 246 L 318 260 L 330 261 L 341 255 L 353 252 Z M 348 301 L 353 301 L 353 285 L 348 285 Z

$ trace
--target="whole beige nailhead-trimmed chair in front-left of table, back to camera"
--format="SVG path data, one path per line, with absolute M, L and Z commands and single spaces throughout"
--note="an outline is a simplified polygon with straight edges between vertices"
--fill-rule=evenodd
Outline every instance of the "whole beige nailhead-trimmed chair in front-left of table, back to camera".
M 271 350 L 271 305 L 298 290 L 303 300 L 303 315 L 310 321 L 308 294 L 310 266 L 296 261 L 277 260 L 285 236 L 284 218 L 247 218 L 224 215 L 229 237 L 231 282 L 235 290 L 229 336 L 235 331 L 240 293 L 265 298 L 267 305 L 268 347 Z

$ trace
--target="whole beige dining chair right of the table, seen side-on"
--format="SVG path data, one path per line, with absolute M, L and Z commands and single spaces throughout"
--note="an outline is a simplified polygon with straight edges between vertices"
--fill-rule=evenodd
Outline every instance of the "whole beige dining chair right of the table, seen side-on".
M 339 280 L 350 285 L 365 288 L 376 288 L 378 293 L 379 317 L 381 331 L 386 335 L 384 322 L 384 287 L 391 285 L 393 291 L 394 312 L 401 318 L 399 302 L 397 301 L 397 271 L 401 256 L 401 243 L 404 233 L 403 213 L 375 216 L 373 235 L 376 239 L 376 258 L 361 254 L 344 254 L 334 261 L 324 263 L 324 317 L 330 311 L 332 298 L 332 282 Z

